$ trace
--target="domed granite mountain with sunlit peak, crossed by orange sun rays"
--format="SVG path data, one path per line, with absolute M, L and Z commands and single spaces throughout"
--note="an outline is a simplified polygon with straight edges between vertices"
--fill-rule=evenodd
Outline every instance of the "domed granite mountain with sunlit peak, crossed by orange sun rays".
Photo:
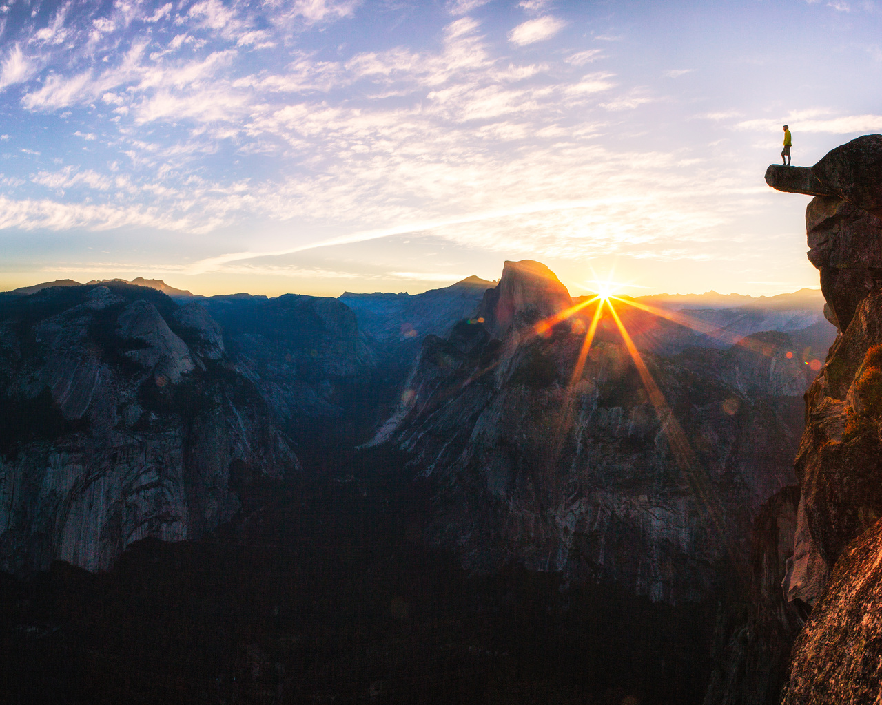
M 584 322 L 537 327 L 570 305 L 544 266 L 506 263 L 481 315 L 426 338 L 375 442 L 434 479 L 430 540 L 467 568 L 515 561 L 658 601 L 706 597 L 746 559 L 759 506 L 793 482 L 802 404 L 771 392 L 804 363 L 776 353 L 739 376 L 744 360 L 723 351 L 644 353 L 657 410 L 620 342 L 595 341 L 577 372 Z

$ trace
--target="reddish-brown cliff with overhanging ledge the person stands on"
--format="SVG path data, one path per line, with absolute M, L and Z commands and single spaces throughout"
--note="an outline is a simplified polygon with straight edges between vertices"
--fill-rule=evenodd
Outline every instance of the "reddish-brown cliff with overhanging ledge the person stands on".
M 877 702 L 882 682 L 880 166 L 882 135 L 867 135 L 799 174 L 774 166 L 766 174 L 774 188 L 814 196 L 806 209 L 809 259 L 820 271 L 826 314 L 841 330 L 806 395 L 796 457 L 802 493 L 784 587 L 814 608 L 794 646 L 788 705 Z

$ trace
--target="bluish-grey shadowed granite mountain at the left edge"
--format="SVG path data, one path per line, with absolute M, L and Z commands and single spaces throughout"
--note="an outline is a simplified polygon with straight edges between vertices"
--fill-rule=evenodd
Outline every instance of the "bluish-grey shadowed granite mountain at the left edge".
M 0 568 L 108 568 L 198 538 L 254 475 L 298 467 L 204 310 L 136 286 L 0 300 Z

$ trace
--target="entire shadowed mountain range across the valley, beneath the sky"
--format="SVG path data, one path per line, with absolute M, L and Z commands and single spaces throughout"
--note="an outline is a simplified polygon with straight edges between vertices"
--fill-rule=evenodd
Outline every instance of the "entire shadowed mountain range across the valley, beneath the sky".
M 607 313 L 583 355 L 598 301 L 530 261 L 415 295 L 205 297 L 143 278 L 0 293 L 2 566 L 20 579 L 59 560 L 115 575 L 147 560 L 134 556 L 164 560 L 143 548 L 150 538 L 197 553 L 273 546 L 259 550 L 282 552 L 274 560 L 318 541 L 317 560 L 338 560 L 357 540 L 333 514 L 344 496 L 348 511 L 374 512 L 370 536 L 398 502 L 411 518 L 382 529 L 395 538 L 377 534 L 398 547 L 382 568 L 369 560 L 370 575 L 396 554 L 440 551 L 450 567 L 426 594 L 444 603 L 445 586 L 471 576 L 467 590 L 504 612 L 524 575 L 555 575 L 541 592 L 554 610 L 617 605 L 579 612 L 579 628 L 614 630 L 624 605 L 641 615 L 634 628 L 658 623 L 633 656 L 635 683 L 694 701 L 710 671 L 695 649 L 710 653 L 712 605 L 741 604 L 753 523 L 796 481 L 802 397 L 836 330 L 811 290 L 611 303 L 633 350 Z M 333 518 L 303 524 L 294 506 Z M 479 587 L 488 580 L 513 582 L 497 593 Z M 691 626 L 665 622 L 670 610 Z M 589 659 L 596 684 L 632 648 Z M 691 655 L 679 676 L 672 654 Z M 284 682 L 260 673 L 255 684 Z

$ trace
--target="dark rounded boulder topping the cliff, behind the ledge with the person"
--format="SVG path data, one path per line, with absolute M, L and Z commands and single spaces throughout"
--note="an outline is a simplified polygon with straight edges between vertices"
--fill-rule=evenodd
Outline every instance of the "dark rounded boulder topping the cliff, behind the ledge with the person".
M 863 135 L 836 147 L 811 173 L 836 196 L 882 216 L 882 135 Z

